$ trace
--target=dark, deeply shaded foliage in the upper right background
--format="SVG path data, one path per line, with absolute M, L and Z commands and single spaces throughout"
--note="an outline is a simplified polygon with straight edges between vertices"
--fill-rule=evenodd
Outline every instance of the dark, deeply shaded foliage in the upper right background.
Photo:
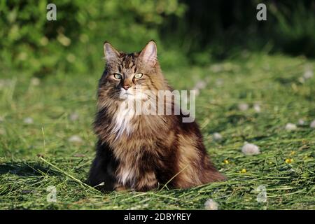
M 165 41 L 179 43 L 190 61 L 209 64 L 244 50 L 315 57 L 314 0 L 186 0 L 183 18 L 162 27 Z M 265 3 L 267 20 L 256 6 Z

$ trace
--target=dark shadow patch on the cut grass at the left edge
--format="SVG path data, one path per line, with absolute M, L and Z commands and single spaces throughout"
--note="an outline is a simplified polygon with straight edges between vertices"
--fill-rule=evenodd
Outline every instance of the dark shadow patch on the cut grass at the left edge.
M 59 172 L 51 170 L 49 167 L 43 167 L 38 162 L 6 162 L 0 165 L 0 175 L 14 174 L 18 176 L 60 176 Z

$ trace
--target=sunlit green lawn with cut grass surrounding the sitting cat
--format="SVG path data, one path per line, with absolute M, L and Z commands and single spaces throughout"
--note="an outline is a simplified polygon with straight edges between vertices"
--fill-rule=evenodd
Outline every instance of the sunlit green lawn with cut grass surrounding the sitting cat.
M 197 122 L 211 159 L 228 181 L 186 190 L 109 194 L 84 183 L 94 156 L 91 124 L 102 68 L 48 76 L 40 85 L 22 71 L 4 72 L 0 209 L 204 209 L 209 198 L 219 209 L 315 209 L 315 130 L 309 127 L 315 119 L 315 78 L 301 82 L 306 66 L 314 68 L 315 63 L 249 54 L 208 67 L 165 70 L 176 89 L 208 81 L 197 97 Z M 240 103 L 249 109 L 239 111 Z M 253 110 L 256 103 L 260 113 Z M 70 119 L 73 113 L 77 120 Z M 34 123 L 24 123 L 25 118 Z M 305 125 L 285 130 L 286 123 L 300 118 Z M 214 132 L 223 141 L 214 141 Z M 68 141 L 73 135 L 82 141 Z M 260 155 L 241 153 L 245 141 L 259 146 Z M 55 186 L 57 202 L 47 202 L 48 186 Z M 257 202 L 258 186 L 265 186 L 267 202 Z

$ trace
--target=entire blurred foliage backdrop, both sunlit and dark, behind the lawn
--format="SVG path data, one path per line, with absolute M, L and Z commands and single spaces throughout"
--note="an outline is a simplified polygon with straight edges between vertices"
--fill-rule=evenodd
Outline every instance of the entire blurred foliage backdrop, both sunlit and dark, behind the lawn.
M 315 56 L 315 1 L 132 0 L 0 3 L 0 68 L 31 76 L 57 71 L 91 73 L 104 66 L 104 41 L 119 50 L 158 43 L 163 67 L 207 65 L 246 50 Z M 267 21 L 256 20 L 258 3 Z

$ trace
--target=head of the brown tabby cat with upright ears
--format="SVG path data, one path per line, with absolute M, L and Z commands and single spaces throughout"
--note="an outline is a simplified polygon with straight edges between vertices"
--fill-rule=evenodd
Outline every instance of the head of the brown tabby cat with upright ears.
M 99 82 L 99 97 L 121 101 L 139 96 L 139 92 L 158 91 L 164 85 L 157 59 L 157 47 L 149 41 L 143 50 L 120 52 L 104 43 L 106 69 Z

